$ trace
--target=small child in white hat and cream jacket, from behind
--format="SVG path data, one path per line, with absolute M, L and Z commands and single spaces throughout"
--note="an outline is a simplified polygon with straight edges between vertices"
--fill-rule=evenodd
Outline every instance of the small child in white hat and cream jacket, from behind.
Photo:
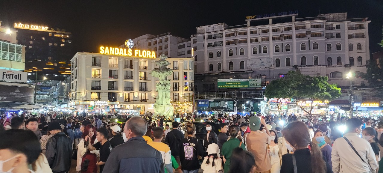
M 219 147 L 216 143 L 208 145 L 208 156 L 206 156 L 201 164 L 204 173 L 217 173 L 222 168 L 222 160 L 219 158 Z

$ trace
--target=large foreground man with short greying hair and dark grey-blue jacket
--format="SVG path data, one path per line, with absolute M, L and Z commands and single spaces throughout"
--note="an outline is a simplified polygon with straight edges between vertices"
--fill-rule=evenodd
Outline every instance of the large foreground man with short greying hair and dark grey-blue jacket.
M 164 172 L 165 165 L 161 153 L 142 138 L 146 130 L 146 122 L 141 117 L 129 119 L 123 133 L 126 143 L 113 148 L 103 172 Z

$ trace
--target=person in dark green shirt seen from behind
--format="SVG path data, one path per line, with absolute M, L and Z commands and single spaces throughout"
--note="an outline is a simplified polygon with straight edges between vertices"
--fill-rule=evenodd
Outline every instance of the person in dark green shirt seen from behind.
M 246 151 L 245 144 L 238 139 L 241 137 L 241 130 L 237 125 L 231 125 L 229 127 L 230 138 L 227 142 L 222 145 L 222 155 L 224 162 L 224 172 L 229 172 L 230 168 L 230 158 L 234 148 L 241 147 Z

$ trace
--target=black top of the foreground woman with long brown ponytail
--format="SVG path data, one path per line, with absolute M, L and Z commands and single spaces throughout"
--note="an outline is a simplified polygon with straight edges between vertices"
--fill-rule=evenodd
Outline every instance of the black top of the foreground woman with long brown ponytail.
M 293 154 L 285 154 L 282 156 L 282 166 L 280 173 L 291 173 L 294 172 L 293 165 Z M 308 148 L 296 150 L 294 152 L 296 160 L 296 170 L 298 173 L 302 172 L 312 172 L 311 171 L 311 153 Z M 326 162 L 326 172 L 332 173 L 332 170 L 329 164 L 326 161 L 326 158 L 323 157 L 323 160 Z

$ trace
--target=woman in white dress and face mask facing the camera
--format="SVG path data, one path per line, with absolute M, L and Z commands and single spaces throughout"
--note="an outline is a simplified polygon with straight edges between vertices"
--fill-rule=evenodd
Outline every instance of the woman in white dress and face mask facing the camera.
M 271 172 L 279 173 L 281 170 L 281 152 L 279 152 L 279 148 L 282 148 L 282 144 L 278 143 L 278 135 L 274 130 L 270 130 L 271 141 L 270 141 L 270 149 L 268 149 L 268 154 L 271 158 Z

